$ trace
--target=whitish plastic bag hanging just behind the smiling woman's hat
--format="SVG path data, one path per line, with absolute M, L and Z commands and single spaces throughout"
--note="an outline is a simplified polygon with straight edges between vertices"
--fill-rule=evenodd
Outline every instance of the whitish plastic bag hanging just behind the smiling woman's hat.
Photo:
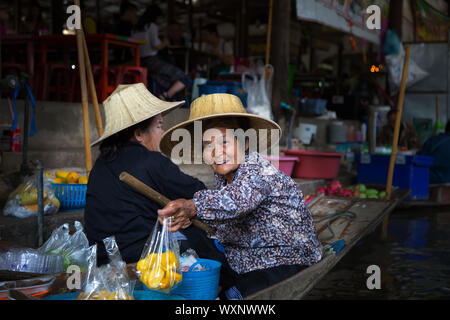
M 269 79 L 266 83 L 266 68 L 269 70 Z M 267 119 L 273 119 L 271 106 L 273 67 L 271 65 L 258 65 L 250 73 L 242 74 L 242 87 L 247 92 L 247 111 Z

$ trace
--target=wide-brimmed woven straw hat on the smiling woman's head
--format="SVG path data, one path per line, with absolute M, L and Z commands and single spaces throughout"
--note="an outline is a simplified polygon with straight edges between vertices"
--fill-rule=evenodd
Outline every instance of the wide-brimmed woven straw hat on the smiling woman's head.
M 247 113 L 247 110 L 245 110 L 239 97 L 232 94 L 215 93 L 201 96 L 192 102 L 190 106 L 189 120 L 173 126 L 162 136 L 159 144 L 161 152 L 172 160 L 180 160 L 182 158 L 185 159 L 182 154 L 172 155 L 171 153 L 172 149 L 180 143 L 178 140 L 178 135 L 173 136 L 173 139 L 176 141 L 172 141 L 172 134 L 177 129 L 186 129 L 189 131 L 191 137 L 190 159 L 191 161 L 200 160 L 202 155 L 194 154 L 194 150 L 196 150 L 195 145 L 197 145 L 198 148 L 198 145 L 202 144 L 202 136 L 198 137 L 198 135 L 195 135 L 194 123 L 196 121 L 204 122 L 205 120 L 223 117 L 247 119 L 247 129 L 255 129 L 256 131 L 258 152 L 263 152 L 266 149 L 271 148 L 278 143 L 281 137 L 281 128 L 276 122 L 262 116 Z M 273 130 L 277 131 L 275 135 L 273 135 Z M 195 139 L 198 139 L 199 141 Z

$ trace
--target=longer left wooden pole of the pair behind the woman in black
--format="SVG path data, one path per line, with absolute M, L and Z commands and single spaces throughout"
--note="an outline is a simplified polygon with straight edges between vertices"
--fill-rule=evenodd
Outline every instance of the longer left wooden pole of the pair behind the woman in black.
M 80 0 L 75 0 L 75 5 L 80 6 Z M 87 175 L 92 170 L 92 154 L 90 146 L 90 126 L 89 126 L 89 104 L 86 87 L 86 65 L 83 50 L 83 29 L 77 29 L 77 53 L 78 65 L 80 68 L 80 87 L 81 87 L 81 106 L 83 110 L 83 128 L 84 128 L 84 155 Z

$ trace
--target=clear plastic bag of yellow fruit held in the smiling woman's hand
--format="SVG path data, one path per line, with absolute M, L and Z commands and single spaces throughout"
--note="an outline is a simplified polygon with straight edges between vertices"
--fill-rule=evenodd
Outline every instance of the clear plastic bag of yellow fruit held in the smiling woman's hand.
M 156 222 L 136 266 L 136 273 L 142 283 L 151 290 L 165 293 L 182 280 L 180 248 L 178 241 L 168 231 L 170 221 L 171 218 L 164 219 L 162 229 L 160 223 Z

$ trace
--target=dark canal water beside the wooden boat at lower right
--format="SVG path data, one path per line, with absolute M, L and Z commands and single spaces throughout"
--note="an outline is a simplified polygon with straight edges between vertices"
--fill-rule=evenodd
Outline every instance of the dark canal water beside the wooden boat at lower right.
M 392 213 L 386 241 L 381 227 L 361 239 L 305 299 L 450 299 L 450 211 L 426 211 Z M 371 265 L 380 289 L 367 288 Z

